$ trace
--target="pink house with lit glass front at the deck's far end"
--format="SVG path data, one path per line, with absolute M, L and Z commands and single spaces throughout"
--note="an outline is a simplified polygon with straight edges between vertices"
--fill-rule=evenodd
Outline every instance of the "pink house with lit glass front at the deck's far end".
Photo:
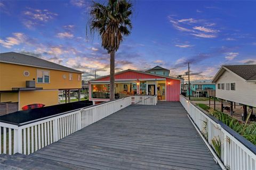
M 179 101 L 183 79 L 136 70 L 115 74 L 115 98 L 131 95 L 157 95 L 158 100 Z M 109 100 L 109 75 L 89 81 L 89 100 Z

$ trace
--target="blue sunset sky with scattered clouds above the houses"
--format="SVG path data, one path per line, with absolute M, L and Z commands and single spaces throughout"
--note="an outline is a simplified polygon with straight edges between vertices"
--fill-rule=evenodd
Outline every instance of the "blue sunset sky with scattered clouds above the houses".
M 98 1 L 105 3 L 106 1 Z M 256 1 L 133 1 L 133 28 L 116 68 L 156 65 L 177 77 L 211 80 L 221 65 L 256 64 Z M 101 39 L 86 34 L 92 1 L 0 1 L 0 52 L 19 52 L 83 71 L 109 74 Z M 184 77 L 185 80 L 187 76 Z

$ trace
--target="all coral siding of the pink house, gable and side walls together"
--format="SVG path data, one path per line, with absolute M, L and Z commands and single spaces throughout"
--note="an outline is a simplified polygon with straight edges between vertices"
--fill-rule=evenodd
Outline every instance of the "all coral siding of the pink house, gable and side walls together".
M 157 75 L 148 75 L 148 74 L 143 74 L 143 73 L 137 73 L 137 72 L 132 72 L 132 71 L 115 75 L 115 80 L 120 80 L 120 79 L 161 79 L 161 78 L 164 78 L 164 77 L 159 77 Z M 109 77 L 98 79 L 97 81 L 109 81 Z M 89 88 L 91 89 L 90 83 L 89 83 Z M 91 91 L 90 91 L 90 94 L 91 94 Z M 180 100 L 179 94 L 180 94 L 180 80 L 166 78 L 166 101 L 179 101 Z M 90 95 L 90 97 L 91 97 L 91 95 Z

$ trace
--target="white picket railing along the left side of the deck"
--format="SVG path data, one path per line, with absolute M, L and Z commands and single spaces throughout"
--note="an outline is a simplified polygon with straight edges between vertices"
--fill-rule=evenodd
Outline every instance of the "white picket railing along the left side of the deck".
M 0 154 L 29 155 L 129 105 L 156 103 L 156 96 L 130 96 L 22 125 L 0 122 Z

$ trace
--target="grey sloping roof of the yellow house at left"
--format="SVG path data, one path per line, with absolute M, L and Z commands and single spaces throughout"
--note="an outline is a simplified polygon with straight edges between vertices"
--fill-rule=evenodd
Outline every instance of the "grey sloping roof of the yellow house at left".
M 15 52 L 0 53 L 0 62 L 41 67 L 41 68 L 52 69 L 52 70 L 83 73 L 81 71 L 71 69 L 69 67 L 66 67 L 66 66 L 63 66 L 60 64 L 56 64 L 56 63 L 52 63 L 52 62 L 43 60 L 42 58 L 38 58 L 38 57 L 31 56 L 31 55 L 26 55 L 26 54 L 21 54 L 21 53 L 15 53 Z

